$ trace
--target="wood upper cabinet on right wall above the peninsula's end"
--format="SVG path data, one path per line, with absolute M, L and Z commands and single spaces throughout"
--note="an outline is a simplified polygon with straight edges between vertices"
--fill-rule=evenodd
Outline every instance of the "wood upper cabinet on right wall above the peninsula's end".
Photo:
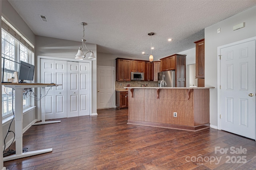
M 204 78 L 204 39 L 196 43 L 196 78 Z

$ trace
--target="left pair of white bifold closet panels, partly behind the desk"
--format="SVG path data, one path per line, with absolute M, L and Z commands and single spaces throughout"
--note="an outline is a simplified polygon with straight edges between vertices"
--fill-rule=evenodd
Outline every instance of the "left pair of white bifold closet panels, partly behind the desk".
M 67 117 L 67 61 L 40 59 L 40 82 L 61 84 L 45 88 L 46 120 Z

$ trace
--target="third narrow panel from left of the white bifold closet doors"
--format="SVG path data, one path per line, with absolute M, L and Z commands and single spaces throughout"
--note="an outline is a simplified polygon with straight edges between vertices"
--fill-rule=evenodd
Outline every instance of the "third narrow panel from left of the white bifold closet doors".
M 76 117 L 79 114 L 78 108 L 78 97 L 79 97 L 79 63 L 68 61 L 68 76 L 67 76 L 67 86 L 68 86 L 68 117 Z

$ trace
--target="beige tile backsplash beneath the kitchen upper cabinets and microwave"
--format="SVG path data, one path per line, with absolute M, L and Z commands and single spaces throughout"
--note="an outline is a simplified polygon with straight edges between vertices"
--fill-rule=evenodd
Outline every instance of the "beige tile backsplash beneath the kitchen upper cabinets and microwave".
M 121 85 L 120 85 L 121 84 Z M 127 85 L 130 84 L 130 87 L 157 87 L 157 82 L 152 81 L 130 81 L 130 82 L 118 82 L 116 81 L 116 90 L 124 90 Z

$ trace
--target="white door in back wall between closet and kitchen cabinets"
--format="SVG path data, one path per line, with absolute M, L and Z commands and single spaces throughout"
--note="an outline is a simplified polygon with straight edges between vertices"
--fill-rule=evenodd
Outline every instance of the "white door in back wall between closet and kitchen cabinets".
M 97 67 L 97 108 L 114 107 L 114 68 Z

